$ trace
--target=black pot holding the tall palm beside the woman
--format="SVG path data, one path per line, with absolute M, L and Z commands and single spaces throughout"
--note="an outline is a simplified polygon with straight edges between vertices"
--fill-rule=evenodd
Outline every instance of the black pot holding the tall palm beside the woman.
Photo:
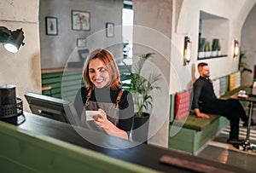
M 131 139 L 133 141 L 147 143 L 148 141 L 148 126 L 150 114 L 144 112 L 143 117 L 134 116 L 132 124 Z

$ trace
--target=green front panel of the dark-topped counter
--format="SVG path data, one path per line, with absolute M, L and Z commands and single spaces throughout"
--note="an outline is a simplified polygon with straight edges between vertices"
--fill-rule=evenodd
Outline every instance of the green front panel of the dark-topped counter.
M 0 121 L 0 172 L 157 172 Z

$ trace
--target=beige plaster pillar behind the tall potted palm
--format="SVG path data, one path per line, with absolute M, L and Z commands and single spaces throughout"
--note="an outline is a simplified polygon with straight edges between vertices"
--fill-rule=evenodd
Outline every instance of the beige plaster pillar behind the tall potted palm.
M 150 112 L 148 143 L 167 147 L 169 124 L 169 73 L 172 37 L 172 0 L 133 0 L 134 28 L 133 54 L 154 53 L 151 66 L 144 68 L 144 75 L 160 72 L 160 91 L 154 92 Z M 154 66 L 152 66 L 152 64 Z

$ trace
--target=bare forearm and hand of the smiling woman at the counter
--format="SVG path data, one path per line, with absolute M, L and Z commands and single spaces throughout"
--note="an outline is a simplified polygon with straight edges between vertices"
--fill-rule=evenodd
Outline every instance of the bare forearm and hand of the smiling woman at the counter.
M 110 122 L 107 118 L 106 112 L 104 112 L 102 109 L 99 109 L 98 111 L 101 113 L 99 115 L 93 116 L 96 125 L 105 130 L 108 135 L 117 136 L 128 140 L 128 135 L 125 130 L 120 130 L 112 122 Z

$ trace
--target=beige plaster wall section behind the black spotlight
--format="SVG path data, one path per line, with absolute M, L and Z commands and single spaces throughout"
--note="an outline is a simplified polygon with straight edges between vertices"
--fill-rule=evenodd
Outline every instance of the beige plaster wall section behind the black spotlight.
M 16 96 L 22 99 L 23 110 L 27 112 L 30 110 L 24 97 L 26 91 L 41 93 L 38 7 L 38 0 L 0 2 L 0 26 L 11 31 L 22 28 L 25 36 L 25 45 L 17 54 L 0 46 L 0 85 L 15 84 Z

